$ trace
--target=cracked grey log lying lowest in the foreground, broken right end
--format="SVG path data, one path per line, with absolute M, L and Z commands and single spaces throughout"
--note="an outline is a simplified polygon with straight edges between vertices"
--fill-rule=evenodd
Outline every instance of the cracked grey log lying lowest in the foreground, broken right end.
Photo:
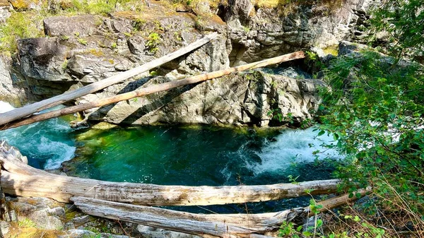
M 361 196 L 365 196 L 365 193 L 360 191 Z M 321 210 L 330 210 L 354 201 L 356 198 L 356 196 L 348 198 L 348 195 L 343 195 L 330 198 L 318 205 L 322 205 Z M 100 218 L 208 237 L 263 237 L 264 234 L 278 230 L 283 221 L 300 224 L 308 216 L 314 215 L 310 213 L 309 207 L 283 210 L 278 213 L 204 215 L 93 198 L 74 197 L 71 201 L 84 213 Z

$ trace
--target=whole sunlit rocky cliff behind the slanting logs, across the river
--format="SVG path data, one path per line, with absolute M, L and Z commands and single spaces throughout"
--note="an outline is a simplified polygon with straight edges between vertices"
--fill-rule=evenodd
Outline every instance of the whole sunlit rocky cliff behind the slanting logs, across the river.
M 368 0 L 336 2 L 340 6 L 320 1 L 281 8 L 234 0 L 215 9 L 207 3 L 199 4 L 192 11 L 154 1 L 138 11 L 116 11 L 108 16 L 44 18 L 46 37 L 18 40 L 13 61 L 0 61 L 0 72 L 9 72 L 0 73 L 0 90 L 5 91 L 2 95 L 9 95 L 2 100 L 11 102 L 16 95 L 23 102 L 52 97 L 164 56 L 208 32 L 218 32 L 218 40 L 151 72 L 166 77 L 146 83 L 143 77 L 147 75 L 140 76 L 136 82 L 111 86 L 78 102 L 126 92 L 143 83 L 216 71 L 299 49 L 327 47 L 355 35 L 355 26 L 362 23 L 368 4 Z M 260 73 L 230 76 L 103 107 L 90 114 L 90 119 L 130 124 L 267 125 L 271 119 L 268 112 L 272 111 L 301 121 L 310 117 L 310 109 L 319 102 L 315 85 Z M 15 92 L 11 87 L 20 89 L 13 89 L 18 90 Z M 23 89 L 28 96 L 25 100 Z

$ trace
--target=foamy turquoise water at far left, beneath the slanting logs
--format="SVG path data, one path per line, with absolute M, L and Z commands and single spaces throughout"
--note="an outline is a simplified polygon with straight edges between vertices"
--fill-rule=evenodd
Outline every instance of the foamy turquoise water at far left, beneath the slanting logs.
M 0 112 L 14 109 L 7 102 L 0 101 Z M 53 109 L 58 109 L 54 107 Z M 42 169 L 57 169 L 61 162 L 74 157 L 76 147 L 69 138 L 72 129 L 63 119 L 55 118 L 28 126 L 0 131 L 0 139 L 19 148 L 28 156 L 30 165 Z

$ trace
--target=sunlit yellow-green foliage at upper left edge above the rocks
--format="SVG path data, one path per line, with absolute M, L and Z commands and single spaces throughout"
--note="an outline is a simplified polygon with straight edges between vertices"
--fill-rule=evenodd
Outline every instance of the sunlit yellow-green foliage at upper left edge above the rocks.
M 6 23 L 0 25 L 0 52 L 14 53 L 18 50 L 17 40 L 43 36 L 44 32 L 37 27 L 41 19 L 30 12 L 13 12 Z

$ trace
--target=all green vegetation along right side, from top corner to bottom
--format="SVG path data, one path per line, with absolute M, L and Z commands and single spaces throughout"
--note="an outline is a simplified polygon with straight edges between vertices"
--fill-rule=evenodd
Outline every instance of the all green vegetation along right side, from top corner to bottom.
M 384 1 L 370 32 L 387 37 L 370 44 L 386 54 L 348 54 L 325 70 L 331 90 L 323 92 L 320 134 L 332 133 L 338 143 L 327 147 L 346 155 L 336 171 L 341 190 L 355 196 L 372 187 L 361 212 L 344 210 L 350 214 L 329 237 L 424 236 L 423 8 L 418 0 Z

